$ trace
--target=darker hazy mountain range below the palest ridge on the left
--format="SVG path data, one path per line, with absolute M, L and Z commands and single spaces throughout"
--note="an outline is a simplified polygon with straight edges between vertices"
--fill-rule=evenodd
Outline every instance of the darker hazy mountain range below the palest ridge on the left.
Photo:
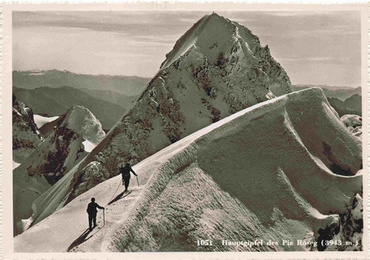
M 105 130 L 112 128 L 112 125 L 126 112 L 123 106 L 103 100 L 103 94 L 101 98 L 95 98 L 87 94 L 86 90 L 73 87 L 37 87 L 36 89 L 13 87 L 13 94 L 19 101 L 31 107 L 34 114 L 44 116 L 59 116 L 65 114 L 73 105 L 83 105 L 99 119 Z

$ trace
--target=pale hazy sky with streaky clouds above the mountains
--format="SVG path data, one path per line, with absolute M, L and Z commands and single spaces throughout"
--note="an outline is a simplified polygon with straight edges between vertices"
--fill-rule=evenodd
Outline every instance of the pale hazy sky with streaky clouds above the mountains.
M 217 12 L 268 44 L 294 84 L 361 83 L 360 12 Z M 13 12 L 13 70 L 151 78 L 210 12 Z

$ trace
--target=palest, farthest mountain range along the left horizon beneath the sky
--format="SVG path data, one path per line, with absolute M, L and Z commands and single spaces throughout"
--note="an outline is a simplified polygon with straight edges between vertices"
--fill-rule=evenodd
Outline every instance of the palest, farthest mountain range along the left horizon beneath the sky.
M 140 94 L 149 80 L 149 78 L 136 76 L 76 74 L 56 69 L 49 71 L 12 71 L 12 85 L 23 89 L 69 86 L 77 89 L 111 90 L 128 96 Z

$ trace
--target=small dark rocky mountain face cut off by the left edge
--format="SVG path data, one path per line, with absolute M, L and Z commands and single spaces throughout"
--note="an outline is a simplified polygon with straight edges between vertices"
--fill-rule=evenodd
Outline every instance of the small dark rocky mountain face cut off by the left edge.
M 33 111 L 12 96 L 13 161 L 20 163 L 44 141 L 33 120 Z

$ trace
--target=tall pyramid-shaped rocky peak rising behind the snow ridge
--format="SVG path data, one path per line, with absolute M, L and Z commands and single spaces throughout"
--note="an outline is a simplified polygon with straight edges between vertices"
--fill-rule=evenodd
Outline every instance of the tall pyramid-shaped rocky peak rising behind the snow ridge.
M 210 123 L 291 92 L 289 86 L 287 73 L 251 31 L 206 15 L 178 40 L 131 110 L 72 170 L 67 194 L 68 184 L 53 192 L 68 202 L 117 175 L 122 162 L 140 162 Z

